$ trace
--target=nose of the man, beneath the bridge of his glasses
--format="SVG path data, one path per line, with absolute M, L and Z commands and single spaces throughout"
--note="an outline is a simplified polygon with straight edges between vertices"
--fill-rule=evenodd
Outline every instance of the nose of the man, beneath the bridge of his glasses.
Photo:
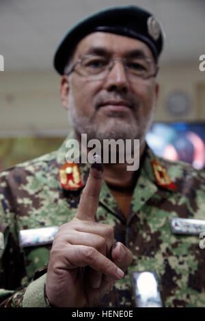
M 113 64 L 105 79 L 105 89 L 109 92 L 127 92 L 128 79 L 126 78 L 126 72 L 121 59 L 113 59 Z

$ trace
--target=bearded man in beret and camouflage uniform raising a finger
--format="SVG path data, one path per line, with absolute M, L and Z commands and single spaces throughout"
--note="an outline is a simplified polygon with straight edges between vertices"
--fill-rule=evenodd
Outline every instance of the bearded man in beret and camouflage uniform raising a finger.
M 75 51 L 65 57 L 69 42 Z M 102 180 L 100 164 L 65 166 L 65 141 L 57 152 L 0 173 L 1 307 L 133 307 L 133 271 L 155 271 L 165 307 L 205 307 L 199 234 L 182 228 L 175 234 L 169 222 L 204 220 L 204 172 L 154 156 L 144 141 L 158 92 L 156 74 L 144 70 L 156 65 L 162 43 L 159 24 L 137 7 L 87 18 L 61 43 L 55 56 L 61 74 L 70 55 L 72 66 L 79 58 L 76 66 L 84 68 L 82 56 L 93 44 L 100 64 L 108 51 L 115 59 L 103 81 L 82 69 L 79 77 L 79 67 L 62 77 L 61 100 L 74 128 L 68 138 L 87 132 L 140 139 L 140 167 L 127 172 L 126 164 L 105 164 Z M 150 59 L 145 67 L 142 54 Z M 51 226 L 61 226 L 53 245 L 19 246 L 20 231 Z

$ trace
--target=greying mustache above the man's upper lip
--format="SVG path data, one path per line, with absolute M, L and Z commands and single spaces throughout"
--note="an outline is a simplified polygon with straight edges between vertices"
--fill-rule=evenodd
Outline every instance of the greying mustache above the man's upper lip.
M 96 99 L 96 109 L 99 109 L 103 104 L 105 104 L 105 102 L 109 102 L 109 101 L 123 101 L 126 102 L 126 104 L 128 104 L 129 107 L 131 107 L 131 109 L 138 109 L 139 108 L 139 100 L 137 100 L 137 98 L 133 98 L 130 95 L 127 94 L 118 94 L 118 95 L 103 95 L 102 97 L 98 97 Z

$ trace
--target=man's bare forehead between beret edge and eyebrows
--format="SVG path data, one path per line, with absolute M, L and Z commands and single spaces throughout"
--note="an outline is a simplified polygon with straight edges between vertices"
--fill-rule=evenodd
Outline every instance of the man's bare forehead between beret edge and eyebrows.
M 87 55 L 92 48 L 103 48 L 112 55 L 125 56 L 132 51 L 142 51 L 146 57 L 153 59 L 150 48 L 140 40 L 108 32 L 94 32 L 85 36 L 74 51 L 74 59 Z

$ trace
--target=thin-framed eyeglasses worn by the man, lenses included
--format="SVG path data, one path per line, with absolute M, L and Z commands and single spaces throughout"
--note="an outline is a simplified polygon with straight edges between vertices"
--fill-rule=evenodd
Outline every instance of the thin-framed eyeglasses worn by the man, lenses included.
M 156 76 L 159 69 L 154 60 L 147 57 L 109 59 L 98 55 L 85 55 L 73 64 L 67 75 L 75 71 L 93 80 L 105 79 L 115 61 L 122 61 L 126 75 L 131 81 Z

